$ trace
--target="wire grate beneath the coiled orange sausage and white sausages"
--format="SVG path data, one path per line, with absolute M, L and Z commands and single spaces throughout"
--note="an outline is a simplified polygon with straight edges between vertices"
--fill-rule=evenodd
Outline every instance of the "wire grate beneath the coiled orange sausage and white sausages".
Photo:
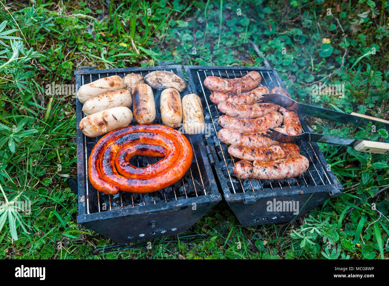
M 172 68 L 158 68 L 158 67 L 149 67 L 145 68 L 124 68 L 116 70 L 88 70 L 87 74 L 83 74 L 82 71 L 78 72 L 76 75 L 76 83 L 78 86 L 82 84 L 88 84 L 89 82 L 95 81 L 102 77 L 109 77 L 112 75 L 119 75 L 124 77 L 128 73 L 137 73 L 145 76 L 151 71 L 155 70 L 168 70 L 174 72 L 175 74 L 180 73 L 180 69 Z M 180 74 L 179 74 L 180 75 Z M 181 72 L 182 77 L 182 72 Z M 77 82 L 79 81 L 79 82 Z M 181 97 L 186 93 L 187 90 L 184 90 L 180 93 Z M 161 90 L 153 89 L 154 99 L 156 103 L 156 120 L 153 122 L 155 124 L 162 124 L 161 114 L 159 112 L 159 98 L 161 95 Z M 131 108 L 132 111 L 132 108 Z M 193 161 L 191 167 L 187 173 L 182 177 L 182 179 L 175 184 L 169 186 L 168 188 L 145 194 L 137 193 L 128 193 L 119 191 L 116 195 L 106 195 L 104 193 L 98 192 L 89 182 L 88 179 L 88 158 L 89 155 L 102 137 L 89 138 L 86 137 L 81 130 L 79 130 L 79 122 L 84 117 L 82 113 L 82 104 L 77 100 L 77 137 L 82 137 L 82 153 L 83 153 L 83 162 L 82 167 L 84 169 L 84 186 L 85 186 L 85 211 L 86 214 L 95 213 L 95 212 L 104 212 L 111 211 L 112 209 L 123 209 L 125 207 L 138 207 L 144 205 L 156 205 L 163 204 L 172 201 L 185 200 L 191 197 L 200 197 L 206 196 L 207 193 L 211 193 L 209 190 L 209 177 L 207 173 L 207 167 L 204 165 L 202 149 L 198 144 L 201 142 L 203 144 L 204 139 L 201 135 L 195 137 L 189 137 L 189 142 L 193 148 Z M 137 124 L 135 119 L 131 124 Z M 149 158 L 136 156 L 130 160 L 130 163 L 134 166 L 145 167 L 147 164 L 152 164 L 158 161 L 157 158 Z M 207 189 L 207 190 L 206 190 Z

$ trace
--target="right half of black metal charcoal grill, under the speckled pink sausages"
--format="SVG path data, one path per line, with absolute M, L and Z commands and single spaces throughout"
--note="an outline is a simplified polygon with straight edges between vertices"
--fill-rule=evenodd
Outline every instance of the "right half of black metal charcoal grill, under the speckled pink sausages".
M 285 88 L 273 68 L 269 67 L 217 67 L 217 66 L 184 66 L 189 85 L 197 93 L 203 104 L 205 121 L 211 125 L 211 136 L 205 138 L 208 146 L 214 146 L 213 156 L 217 162 L 214 165 L 215 177 L 219 188 L 241 225 L 263 225 L 292 221 L 303 216 L 328 198 L 340 195 L 343 189 L 338 182 L 322 152 L 315 142 L 300 141 L 301 154 L 308 158 L 310 166 L 303 175 L 283 180 L 238 179 L 233 174 L 233 166 L 237 161 L 228 152 L 228 146 L 219 141 L 216 136 L 221 127 L 217 118 L 223 115 L 217 105 L 210 101 L 211 91 L 204 85 L 205 77 L 216 75 L 223 78 L 242 77 L 251 70 L 258 71 L 262 76 L 261 85 L 271 90 L 275 86 Z M 301 122 L 304 131 L 309 128 Z M 295 203 L 293 203 L 293 201 Z M 274 211 L 270 204 L 282 202 L 283 205 L 298 202 L 298 214 L 287 210 Z M 285 203 L 286 202 L 286 203 Z M 269 211 L 268 211 L 269 210 Z

